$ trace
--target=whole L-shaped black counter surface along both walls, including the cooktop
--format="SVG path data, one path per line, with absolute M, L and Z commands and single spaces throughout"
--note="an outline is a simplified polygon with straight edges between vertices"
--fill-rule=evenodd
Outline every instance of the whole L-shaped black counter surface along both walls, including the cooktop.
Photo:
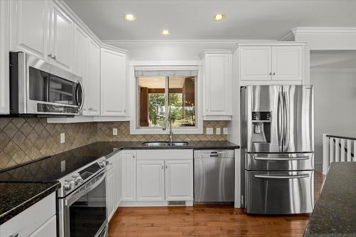
M 0 171 L 0 224 L 56 191 L 61 177 L 122 149 L 239 149 L 228 141 L 189 142 L 182 147 L 145 147 L 142 142 L 95 142 Z M 66 161 L 66 169 L 61 162 Z

